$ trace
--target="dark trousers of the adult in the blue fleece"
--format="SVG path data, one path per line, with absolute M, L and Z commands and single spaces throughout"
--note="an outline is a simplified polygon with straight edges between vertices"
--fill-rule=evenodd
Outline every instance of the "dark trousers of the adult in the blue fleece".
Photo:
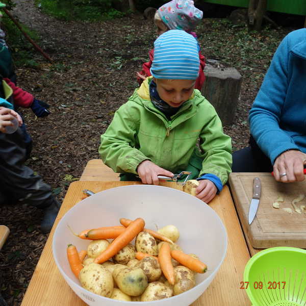
M 233 153 L 233 172 L 272 172 L 270 159 L 250 137 L 249 146 Z

